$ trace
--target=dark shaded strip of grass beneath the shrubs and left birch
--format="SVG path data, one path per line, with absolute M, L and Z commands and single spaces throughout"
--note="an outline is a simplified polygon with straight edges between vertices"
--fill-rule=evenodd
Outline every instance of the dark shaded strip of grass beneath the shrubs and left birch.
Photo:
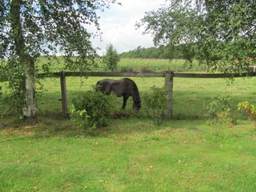
M 2 121 L 3 120 L 3 121 Z M 152 120 L 122 112 L 109 120 L 107 127 L 83 128 L 74 124 L 70 119 L 64 118 L 59 112 L 47 112 L 39 114 L 33 120 L 2 119 L 0 134 L 5 137 L 18 137 L 20 139 L 41 139 L 50 137 L 74 138 L 74 137 L 119 137 L 122 135 L 137 135 L 154 133 L 161 129 L 178 129 L 188 127 L 190 122 L 164 120 L 160 126 Z M 184 126 L 182 126 L 184 124 Z M 186 126 L 187 125 L 187 126 Z

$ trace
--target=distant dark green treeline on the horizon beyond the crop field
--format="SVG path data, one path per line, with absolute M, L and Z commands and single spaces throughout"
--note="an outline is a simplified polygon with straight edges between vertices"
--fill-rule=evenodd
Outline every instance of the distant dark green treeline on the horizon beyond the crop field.
M 159 46 L 144 48 L 138 46 L 134 50 L 121 53 L 121 58 L 142 58 L 142 59 L 185 59 L 181 46 Z

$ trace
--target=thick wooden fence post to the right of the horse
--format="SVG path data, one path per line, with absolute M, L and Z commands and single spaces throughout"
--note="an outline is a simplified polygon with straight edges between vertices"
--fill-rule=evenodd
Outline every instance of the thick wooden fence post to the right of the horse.
M 165 90 L 167 92 L 167 105 L 168 109 L 165 115 L 172 118 L 172 90 L 173 90 L 173 71 L 165 71 Z

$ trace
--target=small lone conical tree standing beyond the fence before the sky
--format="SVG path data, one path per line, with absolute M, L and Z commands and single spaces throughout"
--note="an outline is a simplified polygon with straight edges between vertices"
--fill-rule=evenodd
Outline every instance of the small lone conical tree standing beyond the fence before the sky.
M 120 56 L 116 48 L 110 43 L 107 46 L 107 53 L 103 56 L 103 63 L 107 65 L 110 71 L 116 71 L 117 63 L 120 61 Z

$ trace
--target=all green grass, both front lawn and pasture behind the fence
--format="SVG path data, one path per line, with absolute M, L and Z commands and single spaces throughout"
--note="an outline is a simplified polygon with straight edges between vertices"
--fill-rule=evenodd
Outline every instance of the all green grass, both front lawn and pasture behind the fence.
M 69 107 L 102 78 L 67 77 Z M 237 104 L 255 104 L 256 77 L 174 78 L 174 116 L 160 126 L 144 115 L 143 96 L 164 78 L 132 79 L 140 114 L 131 115 L 129 98 L 128 116 L 86 130 L 60 115 L 59 78 L 42 79 L 35 120 L 0 116 L 0 191 L 255 191 L 256 125 Z M 230 97 L 236 121 L 219 137 L 205 116 L 212 96 Z

